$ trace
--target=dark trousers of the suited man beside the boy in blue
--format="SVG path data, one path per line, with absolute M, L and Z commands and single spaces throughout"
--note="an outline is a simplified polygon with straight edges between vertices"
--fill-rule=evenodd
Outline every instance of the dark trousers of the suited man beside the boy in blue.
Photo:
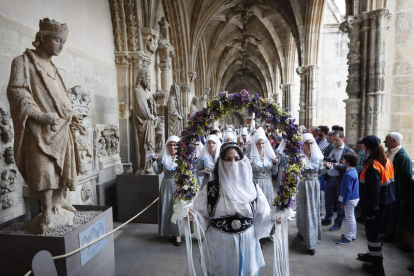
M 337 200 L 337 216 L 335 219 L 335 224 L 339 227 L 342 226 L 342 221 L 345 217 L 345 211 L 341 208 L 341 202 L 338 200 L 339 195 L 341 194 L 341 178 L 328 176 L 326 178 L 326 188 L 325 188 L 325 209 L 326 209 L 326 219 L 332 221 L 333 218 L 333 205 L 335 199 Z

